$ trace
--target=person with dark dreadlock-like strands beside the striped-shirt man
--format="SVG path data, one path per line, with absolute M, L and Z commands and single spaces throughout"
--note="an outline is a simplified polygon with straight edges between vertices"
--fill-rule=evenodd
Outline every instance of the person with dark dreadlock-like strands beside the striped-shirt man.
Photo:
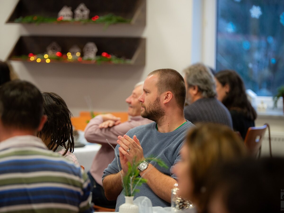
M 76 156 L 72 154 L 74 151 L 74 138 L 71 112 L 65 101 L 56 93 L 43 92 L 42 96 L 47 122 L 38 133 L 38 137 L 50 150 L 58 152 L 79 165 Z

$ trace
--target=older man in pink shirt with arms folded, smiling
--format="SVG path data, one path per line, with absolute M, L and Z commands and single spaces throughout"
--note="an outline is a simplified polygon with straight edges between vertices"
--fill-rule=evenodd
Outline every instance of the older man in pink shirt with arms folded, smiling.
M 91 119 L 85 128 L 85 138 L 87 141 L 102 145 L 88 172 L 93 185 L 92 201 L 96 205 L 106 208 L 115 208 L 116 206 L 116 201 L 108 201 L 106 199 L 105 191 L 102 187 L 103 171 L 114 159 L 114 150 L 108 145 L 106 139 L 115 146 L 117 145 L 116 140 L 118 135 L 124 135 L 136 126 L 152 122 L 140 116 L 141 106 L 138 98 L 143 92 L 143 83 L 137 83 L 131 95 L 126 99 L 126 103 L 128 103 L 128 115 L 130 116 L 128 121 L 121 123 L 120 118 L 112 114 L 101 114 Z

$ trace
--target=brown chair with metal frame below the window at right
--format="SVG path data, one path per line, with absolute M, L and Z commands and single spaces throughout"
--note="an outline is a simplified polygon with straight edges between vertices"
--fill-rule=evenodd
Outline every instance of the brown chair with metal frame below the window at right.
M 263 126 L 260 126 L 260 127 L 250 127 L 248 129 L 246 137 L 245 137 L 245 146 L 247 147 L 249 153 L 252 156 L 256 157 L 258 154 L 258 158 L 260 157 L 262 139 L 264 137 L 264 133 L 267 128 L 268 128 L 268 133 L 269 133 L 270 157 L 272 157 L 270 127 L 268 124 L 264 124 Z

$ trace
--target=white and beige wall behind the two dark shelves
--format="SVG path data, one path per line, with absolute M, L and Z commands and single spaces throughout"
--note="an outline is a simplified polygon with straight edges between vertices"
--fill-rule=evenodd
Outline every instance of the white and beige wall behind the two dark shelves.
M 142 36 L 147 39 L 146 66 L 93 66 L 89 64 L 37 64 L 12 62 L 21 79 L 42 91 L 58 93 L 74 116 L 89 110 L 126 111 L 126 97 L 135 83 L 158 68 L 182 71 L 191 61 L 192 0 L 148 0 L 146 28 L 5 24 L 17 0 L 1 0 L 0 60 L 5 60 L 20 35 Z

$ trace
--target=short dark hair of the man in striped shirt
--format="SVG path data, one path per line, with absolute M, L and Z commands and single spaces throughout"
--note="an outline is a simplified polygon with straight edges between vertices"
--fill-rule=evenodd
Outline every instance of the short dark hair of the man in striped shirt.
M 43 116 L 43 98 L 33 84 L 14 80 L 0 87 L 0 119 L 5 127 L 36 130 Z

